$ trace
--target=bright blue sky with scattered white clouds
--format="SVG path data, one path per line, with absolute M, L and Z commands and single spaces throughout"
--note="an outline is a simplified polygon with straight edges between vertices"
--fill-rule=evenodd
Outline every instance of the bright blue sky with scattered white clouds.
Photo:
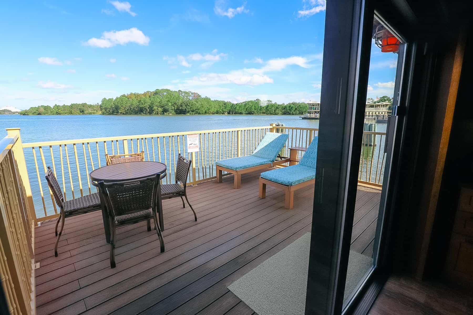
M 320 100 L 324 0 L 11 1 L 0 107 L 100 102 L 157 88 L 239 102 Z M 372 50 L 368 97 L 397 55 Z M 390 94 L 389 94 L 390 93 Z

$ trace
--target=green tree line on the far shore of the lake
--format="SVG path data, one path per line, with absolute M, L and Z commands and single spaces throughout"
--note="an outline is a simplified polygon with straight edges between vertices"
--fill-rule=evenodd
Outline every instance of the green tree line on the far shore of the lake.
M 186 114 L 241 114 L 241 115 L 302 115 L 308 106 L 303 102 L 279 104 L 259 99 L 232 103 L 211 100 L 189 91 L 157 89 L 144 93 L 123 94 L 104 98 L 100 104 L 70 104 L 36 106 L 22 111 L 22 115 L 186 115 Z

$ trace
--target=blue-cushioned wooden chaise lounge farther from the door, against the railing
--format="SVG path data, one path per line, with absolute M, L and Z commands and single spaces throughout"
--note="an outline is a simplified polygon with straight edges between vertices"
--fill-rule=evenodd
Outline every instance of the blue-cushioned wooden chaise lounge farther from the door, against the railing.
M 268 132 L 253 154 L 217 161 L 217 181 L 222 181 L 222 171 L 232 173 L 235 176 L 233 187 L 238 189 L 240 188 L 241 174 L 289 162 L 289 158 L 276 161 L 288 137 L 287 134 Z

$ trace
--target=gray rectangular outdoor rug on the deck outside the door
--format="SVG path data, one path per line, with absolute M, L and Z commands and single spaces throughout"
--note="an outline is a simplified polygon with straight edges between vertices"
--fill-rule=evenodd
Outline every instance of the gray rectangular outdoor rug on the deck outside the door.
M 310 233 L 233 282 L 228 289 L 259 315 L 303 315 L 306 307 Z M 350 250 L 346 300 L 373 260 Z

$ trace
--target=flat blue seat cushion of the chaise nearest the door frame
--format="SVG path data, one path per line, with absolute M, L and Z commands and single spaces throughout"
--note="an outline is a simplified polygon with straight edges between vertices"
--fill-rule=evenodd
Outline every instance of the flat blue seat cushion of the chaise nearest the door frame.
M 268 170 L 261 173 L 261 177 L 281 185 L 294 186 L 315 179 L 315 169 L 297 164 L 276 170 Z

